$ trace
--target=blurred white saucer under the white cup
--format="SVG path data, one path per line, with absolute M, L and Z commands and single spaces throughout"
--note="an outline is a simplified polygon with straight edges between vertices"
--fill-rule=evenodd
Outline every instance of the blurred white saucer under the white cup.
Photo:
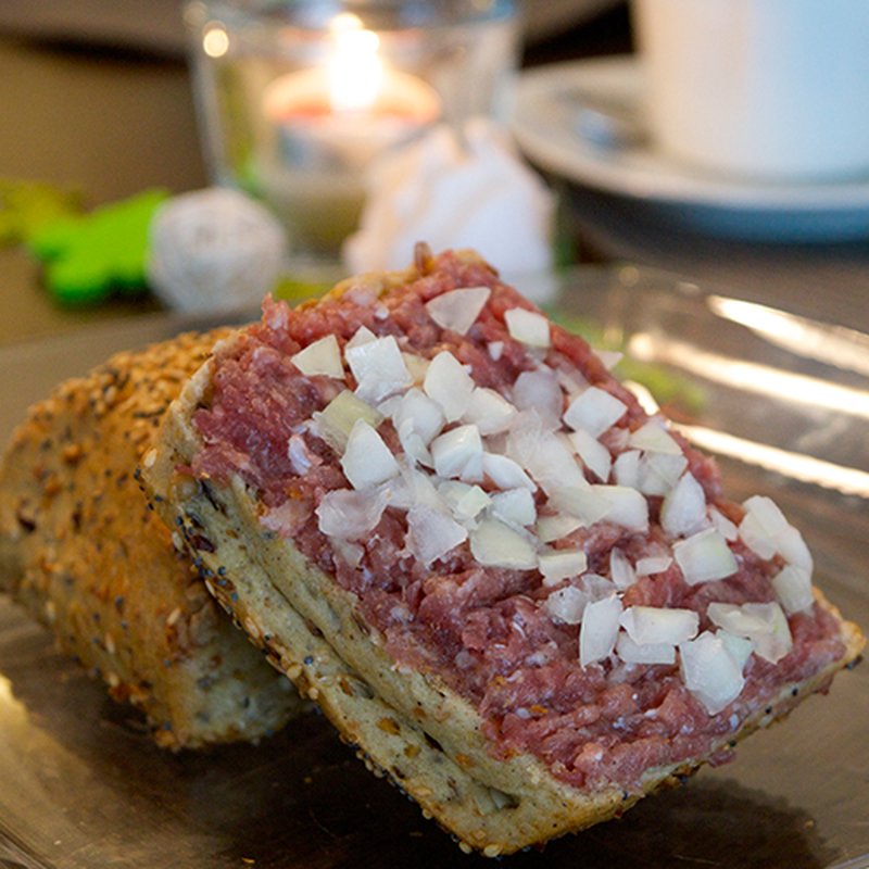
M 718 235 L 774 241 L 869 237 L 869 177 L 816 184 L 748 184 L 680 164 L 640 137 L 601 143 L 583 109 L 614 106 L 641 128 L 643 71 L 632 56 L 552 64 L 519 76 L 513 131 L 541 168 L 640 200 Z

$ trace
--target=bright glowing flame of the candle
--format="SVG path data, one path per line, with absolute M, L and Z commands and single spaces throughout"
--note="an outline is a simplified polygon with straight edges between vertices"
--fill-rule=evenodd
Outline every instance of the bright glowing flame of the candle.
M 383 86 L 380 37 L 366 30 L 351 12 L 336 15 L 329 30 L 332 53 L 327 64 L 329 100 L 336 112 L 370 109 Z

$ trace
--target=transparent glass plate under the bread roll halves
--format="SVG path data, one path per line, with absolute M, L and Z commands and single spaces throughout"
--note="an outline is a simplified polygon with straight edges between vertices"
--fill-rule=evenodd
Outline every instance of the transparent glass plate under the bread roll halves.
M 533 293 L 538 288 L 524 289 Z M 635 268 L 579 269 L 554 310 L 640 358 L 707 449 L 730 494 L 771 494 L 814 550 L 816 580 L 869 625 L 869 339 Z M 0 349 L 0 434 L 30 401 L 110 352 L 190 320 L 147 317 Z M 727 438 L 720 433 L 727 432 Z M 747 459 L 747 461 L 745 461 Z M 869 667 L 842 673 L 726 766 L 642 801 L 621 820 L 511 866 L 869 866 Z M 259 746 L 161 752 L 135 711 L 52 651 L 0 599 L 0 867 L 468 867 L 395 789 L 311 715 Z

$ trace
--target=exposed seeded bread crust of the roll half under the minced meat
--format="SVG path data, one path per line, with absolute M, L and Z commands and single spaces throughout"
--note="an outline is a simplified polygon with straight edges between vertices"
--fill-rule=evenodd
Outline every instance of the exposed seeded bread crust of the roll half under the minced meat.
M 395 273 L 362 280 L 386 289 L 416 276 Z M 255 492 L 239 478 L 221 486 L 176 471 L 201 448 L 191 417 L 207 404 L 211 368 L 204 365 L 174 402 L 158 448 L 143 459 L 146 487 L 158 511 L 182 530 L 203 564 L 209 591 L 235 620 L 303 695 L 319 704 L 369 768 L 412 796 L 464 851 L 509 854 L 621 815 L 642 796 L 677 783 L 753 730 L 783 717 L 805 695 L 826 689 L 862 647 L 856 626 L 841 622 L 846 645 L 841 660 L 808 681 L 783 685 L 708 755 L 648 769 L 641 793 L 619 788 L 583 792 L 555 779 L 530 754 L 500 760 L 490 753 L 482 721 L 469 703 L 433 673 L 398 667 L 378 633 L 356 615 L 355 595 L 337 587 L 291 541 L 263 529 Z

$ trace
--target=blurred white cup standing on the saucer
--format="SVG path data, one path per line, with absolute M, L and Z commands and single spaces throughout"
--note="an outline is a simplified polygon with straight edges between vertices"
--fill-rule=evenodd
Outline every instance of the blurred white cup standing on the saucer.
M 869 175 L 869 0 L 634 0 L 656 146 L 730 176 Z

